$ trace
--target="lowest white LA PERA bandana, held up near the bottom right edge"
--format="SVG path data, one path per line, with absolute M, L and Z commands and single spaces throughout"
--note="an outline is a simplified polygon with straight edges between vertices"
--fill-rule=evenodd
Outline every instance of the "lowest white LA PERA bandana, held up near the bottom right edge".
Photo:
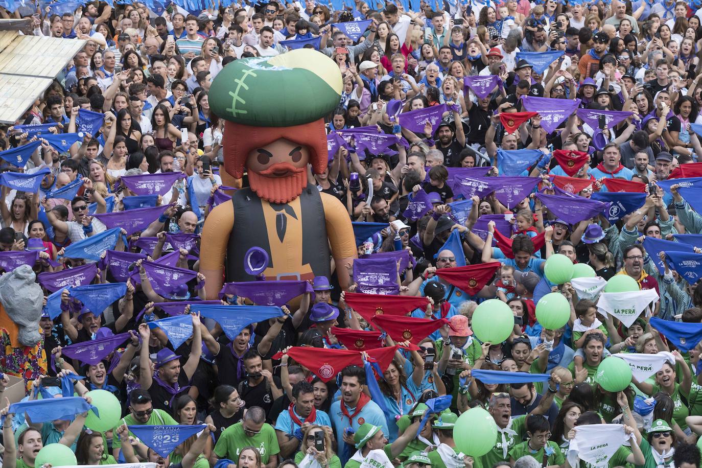
M 607 467 L 612 455 L 629 439 L 636 441 L 633 434 L 626 435 L 622 424 L 576 426 L 568 448 L 568 462 L 576 467 L 579 458 L 594 467 Z

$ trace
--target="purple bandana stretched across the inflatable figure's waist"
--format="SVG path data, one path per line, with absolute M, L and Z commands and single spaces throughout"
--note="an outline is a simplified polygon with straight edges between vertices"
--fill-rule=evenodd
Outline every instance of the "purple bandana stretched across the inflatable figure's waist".
M 225 294 L 246 297 L 256 305 L 277 305 L 281 307 L 300 294 L 314 293 L 312 285 L 307 281 L 239 281 L 225 283 L 220 291 L 220 298 Z

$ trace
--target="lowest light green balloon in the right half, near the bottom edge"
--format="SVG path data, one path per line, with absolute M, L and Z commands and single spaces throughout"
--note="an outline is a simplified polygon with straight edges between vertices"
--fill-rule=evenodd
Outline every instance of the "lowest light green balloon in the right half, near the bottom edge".
M 461 434 L 453 440 L 458 451 L 471 457 L 482 457 L 497 443 L 497 424 L 483 408 L 470 408 L 458 416 L 453 434 Z

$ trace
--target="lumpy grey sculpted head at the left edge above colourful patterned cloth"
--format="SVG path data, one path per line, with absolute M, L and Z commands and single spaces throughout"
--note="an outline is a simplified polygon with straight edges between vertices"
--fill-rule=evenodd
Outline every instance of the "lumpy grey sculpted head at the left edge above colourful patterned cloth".
M 41 340 L 39 320 L 44 307 L 44 293 L 35 281 L 34 271 L 22 265 L 0 276 L 0 303 L 7 316 L 20 329 L 18 340 L 23 346 L 35 346 Z

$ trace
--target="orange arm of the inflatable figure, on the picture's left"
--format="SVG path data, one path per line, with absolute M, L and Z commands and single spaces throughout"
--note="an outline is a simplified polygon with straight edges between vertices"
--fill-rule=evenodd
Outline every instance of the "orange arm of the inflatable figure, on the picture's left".
M 208 300 L 217 299 L 222 289 L 224 259 L 232 227 L 234 227 L 232 203 L 222 203 L 211 211 L 202 228 L 202 239 L 207 241 L 203 242 L 200 248 L 200 272 L 206 278 L 205 294 Z

